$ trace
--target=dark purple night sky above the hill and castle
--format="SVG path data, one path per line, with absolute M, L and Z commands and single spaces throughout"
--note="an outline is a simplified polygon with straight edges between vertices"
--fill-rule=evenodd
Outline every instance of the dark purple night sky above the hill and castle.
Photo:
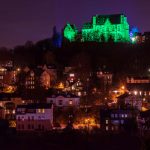
M 54 25 L 81 27 L 95 14 L 124 13 L 141 32 L 150 30 L 150 0 L 0 0 L 0 47 L 48 38 Z

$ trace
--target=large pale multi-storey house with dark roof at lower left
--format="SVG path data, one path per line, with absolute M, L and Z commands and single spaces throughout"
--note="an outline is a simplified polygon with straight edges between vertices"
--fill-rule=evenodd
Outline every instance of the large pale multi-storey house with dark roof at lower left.
M 34 103 L 16 108 L 17 131 L 49 131 L 53 127 L 53 105 Z

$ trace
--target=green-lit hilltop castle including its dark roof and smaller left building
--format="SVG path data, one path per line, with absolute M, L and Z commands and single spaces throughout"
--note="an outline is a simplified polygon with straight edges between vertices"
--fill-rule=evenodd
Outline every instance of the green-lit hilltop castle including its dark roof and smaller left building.
M 64 37 L 70 42 L 75 41 L 79 32 L 75 25 L 67 24 Z M 91 22 L 84 23 L 81 29 L 81 41 L 96 42 L 129 42 L 129 24 L 123 14 L 96 15 Z

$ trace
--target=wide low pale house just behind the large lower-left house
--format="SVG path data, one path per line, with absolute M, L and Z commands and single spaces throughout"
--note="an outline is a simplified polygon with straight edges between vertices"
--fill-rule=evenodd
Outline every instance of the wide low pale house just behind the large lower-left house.
M 78 107 L 80 98 L 73 94 L 54 94 L 47 97 L 47 103 L 52 103 L 56 107 Z

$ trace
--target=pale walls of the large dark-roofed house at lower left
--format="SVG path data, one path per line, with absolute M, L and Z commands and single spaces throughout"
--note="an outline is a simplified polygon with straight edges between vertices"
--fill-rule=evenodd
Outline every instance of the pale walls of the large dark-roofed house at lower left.
M 34 113 L 16 114 L 16 129 L 19 131 L 51 130 L 53 109 L 36 109 Z

